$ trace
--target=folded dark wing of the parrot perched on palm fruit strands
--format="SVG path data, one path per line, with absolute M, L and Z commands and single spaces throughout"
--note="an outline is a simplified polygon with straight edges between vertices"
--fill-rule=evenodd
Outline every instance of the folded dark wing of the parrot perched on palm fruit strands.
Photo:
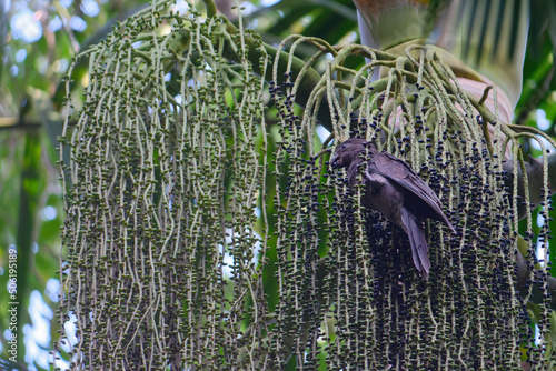
M 387 152 L 374 153 L 368 161 L 367 171 L 378 173 L 418 197 L 438 217 L 435 219 L 444 221 L 454 231 L 454 227 L 444 214 L 443 204 L 436 193 L 405 161 Z

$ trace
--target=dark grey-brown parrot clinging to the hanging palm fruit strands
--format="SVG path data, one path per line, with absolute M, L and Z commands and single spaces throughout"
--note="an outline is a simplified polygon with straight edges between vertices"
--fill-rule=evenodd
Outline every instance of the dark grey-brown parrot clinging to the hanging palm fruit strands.
M 405 161 L 387 152 L 379 153 L 375 143 L 348 139 L 336 149 L 330 163 L 334 168 L 347 168 L 348 183 L 353 187 L 365 160 L 361 156 L 366 153 L 367 169 L 363 172 L 366 193 L 361 203 L 404 229 L 409 237 L 415 267 L 427 280 L 430 260 L 423 221 L 426 218 L 441 221 L 455 232 L 454 227 L 427 183 Z

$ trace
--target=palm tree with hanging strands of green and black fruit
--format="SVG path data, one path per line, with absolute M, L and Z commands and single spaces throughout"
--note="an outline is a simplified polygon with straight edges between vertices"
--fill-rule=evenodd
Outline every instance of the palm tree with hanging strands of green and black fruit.
M 552 139 L 523 124 L 550 106 L 549 68 L 529 50 L 522 66 L 526 2 L 424 3 L 357 3 L 365 46 L 335 47 L 355 26 L 345 1 L 279 2 L 260 34 L 244 31 L 257 12 L 232 24 L 210 1 L 158 2 L 83 51 L 60 151 L 59 320 L 77 317 L 78 341 L 67 353 L 64 332 L 59 354 L 75 369 L 517 370 L 522 354 L 549 369 L 553 281 L 534 249 L 552 227 Z M 547 92 L 518 102 L 532 69 Z M 428 281 L 405 233 L 329 169 L 325 148 L 354 136 L 410 163 L 456 227 L 427 223 Z

